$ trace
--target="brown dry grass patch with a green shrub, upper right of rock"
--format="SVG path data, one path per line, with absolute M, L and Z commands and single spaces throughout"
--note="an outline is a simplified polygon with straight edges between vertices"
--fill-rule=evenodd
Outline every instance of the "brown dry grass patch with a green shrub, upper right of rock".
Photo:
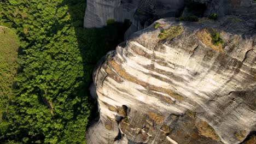
M 201 29 L 196 32 L 197 38 L 199 38 L 203 44 L 211 47 L 213 50 L 223 52 L 223 43 L 224 41 L 220 38 L 220 34 L 214 31 L 213 29 Z

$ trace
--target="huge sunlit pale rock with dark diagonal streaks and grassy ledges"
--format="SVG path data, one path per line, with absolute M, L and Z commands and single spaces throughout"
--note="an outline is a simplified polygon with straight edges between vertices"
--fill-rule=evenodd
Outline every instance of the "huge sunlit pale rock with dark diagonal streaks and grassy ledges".
M 255 20 L 161 19 L 131 35 L 95 69 L 87 142 L 242 142 L 256 130 Z

